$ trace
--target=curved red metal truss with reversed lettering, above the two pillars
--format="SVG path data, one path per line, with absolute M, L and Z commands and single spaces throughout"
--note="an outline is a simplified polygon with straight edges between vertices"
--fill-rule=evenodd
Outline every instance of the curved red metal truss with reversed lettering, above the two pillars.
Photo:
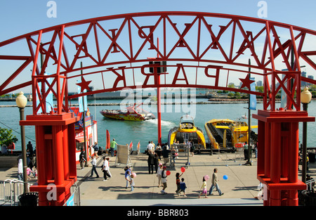
M 256 28 L 249 30 L 249 24 Z M 74 30 L 73 27 L 81 28 Z M 287 32 L 285 40 L 280 38 L 284 32 Z M 228 36 L 229 39 L 227 39 Z M 160 41 L 159 46 L 154 42 L 157 37 Z M 223 41 L 224 37 L 226 37 L 225 41 Z M 118 83 L 126 82 L 124 70 L 139 70 L 140 75 L 143 77 L 145 75 L 146 79 L 153 76 L 143 70 L 144 67 L 148 67 L 150 60 L 148 57 L 157 54 L 157 59 L 167 61 L 168 69 L 175 67 L 176 71 L 181 71 L 184 78 L 173 77 L 172 83 L 165 81 L 162 84 L 157 84 L 156 80 L 153 84 L 144 81 L 144 88 L 176 86 L 254 93 L 263 96 L 265 110 L 269 107 L 275 110 L 275 96 L 280 89 L 283 89 L 287 94 L 287 108 L 291 109 L 293 105 L 296 110 L 300 110 L 300 97 L 294 98 L 294 93 L 301 91 L 301 81 L 316 84 L 315 80 L 301 77 L 300 62 L 316 70 L 313 58 L 316 56 L 316 48 L 304 44 L 306 37 L 316 37 L 316 32 L 269 20 L 216 13 L 130 13 L 70 22 L 0 42 L 0 61 L 24 61 L 21 65 L 17 65 L 15 71 L 8 77 L 1 76 L 6 79 L 1 82 L 0 95 L 32 84 L 33 97 L 37 97 L 33 101 L 34 114 L 37 114 L 40 109 L 46 112 L 46 97 L 50 92 L 53 92 L 57 99 L 58 113 L 67 112 L 69 98 L 123 89 L 118 86 Z M 27 56 L 3 54 L 2 48 L 18 41 L 25 42 L 28 48 Z M 261 44 L 263 47 L 258 46 Z M 185 51 L 180 56 L 179 48 Z M 113 58 L 114 54 L 120 56 L 119 60 Z M 218 57 L 213 58 L 212 54 Z M 40 55 L 43 56 L 41 62 Z M 248 60 L 249 56 L 253 60 L 251 65 L 244 61 L 245 58 Z M 82 60 L 85 62 L 84 67 L 79 65 Z M 282 68 L 278 67 L 277 60 L 283 63 Z M 13 84 L 14 79 L 25 72 L 29 65 L 32 65 L 32 75 L 29 79 L 23 83 Z M 52 66 L 55 66 L 53 74 L 46 75 L 45 72 L 51 71 Z M 105 67 L 105 69 L 100 70 L 100 67 Z M 189 73 L 186 67 L 204 70 L 204 77 L 214 78 L 215 83 L 199 83 L 198 71 Z M 239 67 L 238 70 L 237 67 Z M 240 76 L 237 77 L 244 79 L 248 67 L 253 70 L 252 76 L 262 77 L 265 85 L 263 93 L 229 88 L 227 83 L 226 86 L 218 84 L 223 79 L 225 82 L 228 81 L 228 77 L 222 77 L 223 72 L 225 75 L 230 75 L 230 72 L 234 71 L 239 72 Z M 287 71 L 282 71 L 282 69 L 287 69 Z M 100 82 L 109 80 L 108 74 L 114 74 L 117 78 L 114 79 L 113 86 L 103 84 L 101 90 L 87 91 L 87 93 L 69 97 L 68 81 L 81 79 L 80 70 L 88 70 L 84 77 L 99 75 Z M 210 72 L 216 72 L 216 74 Z M 195 76 L 195 81 L 185 80 L 188 75 Z M 124 86 L 136 88 L 136 77 L 133 72 L 133 83 L 124 84 Z M 169 75 L 166 74 L 164 77 L 169 77 Z

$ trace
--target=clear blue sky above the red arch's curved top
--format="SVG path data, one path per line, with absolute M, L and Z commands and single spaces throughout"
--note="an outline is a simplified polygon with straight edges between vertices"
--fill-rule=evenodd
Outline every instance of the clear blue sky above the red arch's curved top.
M 1 0 L 0 41 L 67 22 L 122 13 L 199 11 L 258 18 L 258 10 L 261 9 L 259 2 L 260 0 L 55 0 L 57 17 L 48 18 L 48 0 Z M 264 2 L 268 9 L 268 17 L 264 19 L 316 30 L 315 0 Z M 1 69 L 0 75 L 4 72 L 4 68 Z

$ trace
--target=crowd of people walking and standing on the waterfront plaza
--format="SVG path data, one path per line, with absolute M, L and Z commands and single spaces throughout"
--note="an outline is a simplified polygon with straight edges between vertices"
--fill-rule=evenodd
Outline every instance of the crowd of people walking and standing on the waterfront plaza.
M 190 152 L 192 153 L 191 156 L 194 156 L 194 148 L 192 149 L 192 146 L 194 143 L 191 143 L 192 141 L 189 141 L 187 145 L 190 148 Z M 117 145 L 115 139 L 111 141 L 110 145 L 110 155 L 114 157 L 114 149 Z M 156 174 L 157 176 L 157 187 L 162 187 L 162 190 L 160 193 L 166 194 L 166 188 L 168 183 L 168 176 L 170 175 L 170 171 L 167 170 L 167 166 L 169 163 L 169 160 L 173 160 L 173 163 L 176 160 L 176 157 L 178 157 L 178 143 L 175 141 L 171 148 L 169 148 L 169 145 L 165 143 L 164 145 L 160 145 L 157 143 L 155 145 L 153 141 L 148 141 L 147 145 L 147 164 L 148 164 L 148 174 Z M 98 171 L 97 171 L 97 160 L 98 160 L 98 143 L 95 143 L 95 145 L 92 146 L 95 149 L 95 152 L 91 156 L 91 177 L 93 177 L 93 174 L 96 174 L 96 178 L 100 178 Z M 256 145 L 254 146 L 255 155 L 257 156 L 256 151 Z M 249 145 L 247 143 L 244 144 L 244 158 L 248 158 L 248 152 L 249 152 Z M 170 157 L 171 156 L 171 157 Z M 110 157 L 104 156 L 103 157 L 103 163 L 101 165 L 101 172 L 103 172 L 103 181 L 107 181 L 112 178 L 112 174 L 110 172 Z M 86 153 L 84 150 L 81 150 L 81 154 L 79 155 L 79 162 L 81 164 L 81 169 L 84 169 L 86 165 Z M 182 171 L 182 169 L 181 169 Z M 221 192 L 219 186 L 218 186 L 218 169 L 213 169 L 213 174 L 211 176 L 211 187 L 209 188 L 209 193 L 207 193 L 207 180 L 209 179 L 209 176 L 203 176 L 202 177 L 202 187 L 201 187 L 201 193 L 199 194 L 199 198 L 201 198 L 202 195 L 204 195 L 205 198 L 207 198 L 207 195 L 213 195 L 213 189 L 216 188 L 216 191 L 218 192 L 218 195 L 223 195 L 224 193 Z M 18 179 L 23 180 L 22 178 L 23 174 L 23 167 L 22 167 L 22 158 L 19 158 L 18 161 Z M 183 172 L 176 173 L 176 196 L 180 196 L 181 193 L 183 193 L 183 196 L 185 195 L 185 190 L 187 188 L 185 184 L 185 179 L 181 178 L 180 176 L 183 175 Z M 36 178 L 37 177 L 37 160 L 36 160 L 36 150 L 33 149 L 32 143 L 29 141 L 27 144 L 27 178 L 31 179 L 31 177 Z M 136 183 L 134 181 L 136 177 L 136 173 L 132 172 L 131 167 L 125 167 L 124 168 L 124 179 L 126 180 L 126 189 L 131 188 L 131 192 L 133 192 Z M 308 176 L 309 177 L 309 176 Z

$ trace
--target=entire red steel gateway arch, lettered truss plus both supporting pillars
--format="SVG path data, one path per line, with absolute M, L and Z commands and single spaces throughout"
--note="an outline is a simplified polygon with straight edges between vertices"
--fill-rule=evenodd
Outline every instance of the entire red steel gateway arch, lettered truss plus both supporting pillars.
M 316 84 L 301 76 L 301 65 L 316 70 L 316 48 L 310 44 L 315 37 L 315 30 L 257 18 L 151 12 L 70 22 L 0 42 L 1 71 L 9 72 L 1 74 L 0 95 L 32 86 L 34 115 L 20 124 L 36 129 L 39 177 L 32 190 L 39 191 L 40 205 L 63 205 L 77 178 L 72 151 L 77 118 L 70 112 L 69 100 L 138 85 L 158 91 L 197 87 L 263 96 L 264 109 L 254 117 L 258 180 L 268 187 L 264 204 L 298 205 L 297 192 L 305 188 L 298 181 L 298 122 L 315 118 L 301 111 L 296 94 L 301 93 L 301 81 Z M 159 66 L 167 71 L 149 71 Z M 242 87 L 249 87 L 249 73 L 263 82 L 263 93 L 228 87 L 232 75 Z M 89 84 L 102 89 L 69 96 L 68 87 L 74 84 L 81 90 Z M 280 89 L 287 96 L 284 109 L 275 106 Z M 57 98 L 57 112 L 39 113 L 46 112 L 48 93 Z M 51 183 L 58 194 L 53 203 L 46 196 Z

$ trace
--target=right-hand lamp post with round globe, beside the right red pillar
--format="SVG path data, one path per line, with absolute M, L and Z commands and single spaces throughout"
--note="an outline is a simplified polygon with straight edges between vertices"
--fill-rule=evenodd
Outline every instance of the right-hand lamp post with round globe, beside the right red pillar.
M 312 93 L 305 87 L 301 92 L 301 103 L 303 104 L 303 111 L 308 110 L 308 103 L 312 100 Z M 307 156 L 307 122 L 303 122 L 303 162 L 302 162 L 302 182 L 306 183 L 306 156 Z

